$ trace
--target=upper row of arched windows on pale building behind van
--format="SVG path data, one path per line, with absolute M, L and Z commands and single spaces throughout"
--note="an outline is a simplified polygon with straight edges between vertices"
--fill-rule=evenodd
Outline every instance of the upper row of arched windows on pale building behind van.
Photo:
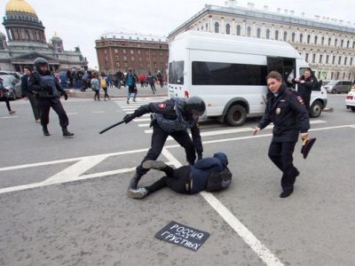
M 203 29 L 203 27 L 202 27 L 202 29 Z M 247 27 L 246 35 L 248 37 L 251 37 L 251 32 L 252 32 L 251 27 Z M 219 23 L 218 22 L 215 23 L 215 33 L 219 33 Z M 231 34 L 231 26 L 229 24 L 227 24 L 225 26 L 225 33 L 227 35 Z M 237 26 L 236 35 L 241 35 L 241 25 Z M 260 27 L 256 28 L 256 37 L 257 38 L 261 38 L 262 37 L 262 29 Z M 266 39 L 271 39 L 271 30 L 270 29 L 266 29 L 265 38 Z M 275 30 L 273 39 L 274 40 L 281 40 L 281 36 L 280 36 L 280 31 L 279 30 Z M 282 40 L 285 41 L 285 42 L 288 41 L 288 32 L 287 31 L 283 32 Z M 293 42 L 293 43 L 296 43 L 296 33 L 292 33 L 290 41 Z M 321 44 L 321 45 L 332 46 L 332 38 L 331 37 L 328 37 L 327 40 L 326 40 L 326 37 L 324 37 L 324 36 L 319 39 L 318 35 L 315 35 L 313 40 L 312 40 L 312 35 L 300 34 L 298 36 L 298 40 L 297 41 L 299 43 L 306 42 L 306 43 L 309 43 L 309 44 L 312 43 L 312 44 Z M 351 48 L 351 41 L 350 40 L 344 41 L 342 39 L 339 42 L 338 39 L 335 38 L 334 46 L 338 47 L 338 45 L 339 45 L 340 48 L 348 48 L 349 49 L 349 48 Z M 352 42 L 352 49 L 355 49 L 355 41 Z

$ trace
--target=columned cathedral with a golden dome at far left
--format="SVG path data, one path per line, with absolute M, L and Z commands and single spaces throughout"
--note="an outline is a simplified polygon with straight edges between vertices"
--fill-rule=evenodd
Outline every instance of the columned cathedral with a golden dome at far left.
M 25 0 L 6 4 L 3 25 L 7 40 L 0 32 L 0 70 L 22 72 L 24 66 L 33 66 L 38 57 L 49 61 L 51 71 L 87 66 L 80 49 L 65 51 L 57 34 L 47 43 L 42 21 Z

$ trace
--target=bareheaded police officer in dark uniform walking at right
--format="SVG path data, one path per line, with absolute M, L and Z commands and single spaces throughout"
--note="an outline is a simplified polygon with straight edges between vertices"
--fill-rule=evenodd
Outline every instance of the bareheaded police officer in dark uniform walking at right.
M 269 98 L 264 116 L 253 133 L 256 135 L 268 124 L 273 123 L 269 157 L 283 173 L 281 178 L 283 192 L 280 193 L 280 198 L 287 198 L 294 191 L 296 177 L 299 176 L 292 157 L 298 132 L 301 132 L 303 139 L 307 139 L 310 121 L 303 99 L 283 84 L 280 73 L 272 71 L 266 76 L 266 81 L 270 91 Z

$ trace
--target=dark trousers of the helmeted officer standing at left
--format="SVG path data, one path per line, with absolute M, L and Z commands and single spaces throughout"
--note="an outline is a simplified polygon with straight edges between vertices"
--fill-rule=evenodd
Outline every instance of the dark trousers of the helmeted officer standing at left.
M 41 110 L 42 126 L 46 126 L 50 122 L 50 110 L 53 108 L 54 112 L 59 116 L 60 127 L 67 127 L 69 120 L 67 119 L 67 113 L 64 111 L 59 98 L 39 98 L 38 104 Z

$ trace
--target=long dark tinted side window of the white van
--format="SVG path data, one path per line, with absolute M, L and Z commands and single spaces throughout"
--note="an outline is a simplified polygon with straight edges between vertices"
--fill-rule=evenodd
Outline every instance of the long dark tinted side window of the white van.
M 193 61 L 193 85 L 266 85 L 267 66 Z

